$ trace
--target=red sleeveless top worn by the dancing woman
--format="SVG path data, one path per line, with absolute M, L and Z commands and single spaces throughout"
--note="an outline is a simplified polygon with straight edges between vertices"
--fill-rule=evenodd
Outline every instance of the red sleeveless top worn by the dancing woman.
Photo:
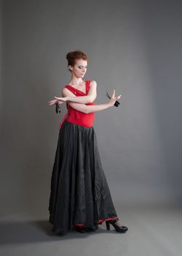
M 79 91 L 79 89 L 74 88 L 73 86 L 67 84 L 65 86 L 68 90 L 73 92 L 76 96 L 85 96 L 87 95 L 89 89 L 90 89 L 90 80 L 85 81 L 85 89 L 86 93 L 83 91 Z M 85 105 L 95 105 L 95 102 L 87 103 Z M 70 105 L 66 104 L 68 112 L 66 113 L 66 116 L 64 116 L 63 120 L 60 123 L 60 127 L 62 127 L 64 121 L 68 121 L 74 124 L 79 124 L 83 127 L 92 127 L 93 121 L 95 118 L 95 113 L 83 113 L 79 110 L 75 110 L 74 108 L 71 108 Z

